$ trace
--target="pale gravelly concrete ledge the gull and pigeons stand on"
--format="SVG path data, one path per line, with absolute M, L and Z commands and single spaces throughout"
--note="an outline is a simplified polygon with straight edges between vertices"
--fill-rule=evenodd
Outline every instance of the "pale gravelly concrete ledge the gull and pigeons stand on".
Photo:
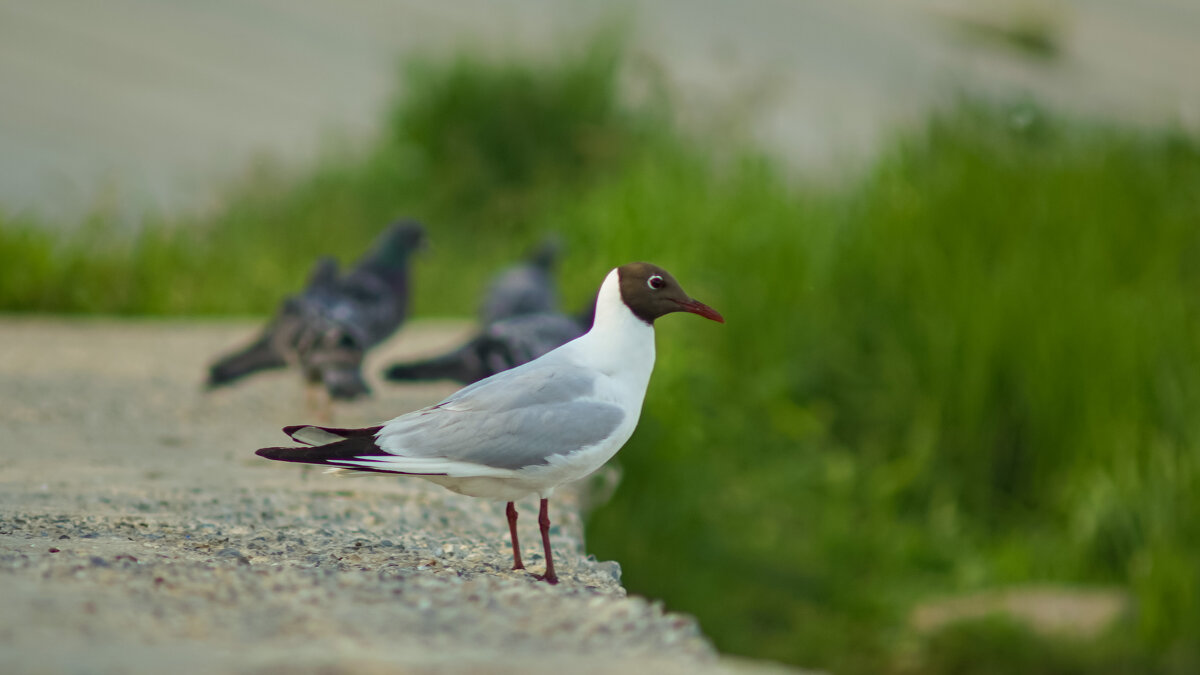
M 774 670 L 719 659 L 696 621 L 629 597 L 587 556 L 583 489 L 551 502 L 562 583 L 535 581 L 536 509 L 403 478 L 336 478 L 253 455 L 304 422 L 299 376 L 204 393 L 245 322 L 0 319 L 0 671 Z M 340 425 L 452 386 L 382 363 L 469 329 L 424 322 L 367 362 Z

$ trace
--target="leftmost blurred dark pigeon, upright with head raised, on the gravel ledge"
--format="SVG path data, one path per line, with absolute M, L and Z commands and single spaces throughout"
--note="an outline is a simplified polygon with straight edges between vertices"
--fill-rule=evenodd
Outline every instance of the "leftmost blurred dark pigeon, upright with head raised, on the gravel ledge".
M 408 258 L 424 238 L 424 228 L 415 222 L 392 225 L 343 276 L 332 258 L 317 261 L 305 289 L 283 300 L 253 344 L 212 364 L 209 387 L 293 365 L 310 386 L 324 386 L 331 398 L 370 393 L 362 380 L 362 356 L 404 321 Z

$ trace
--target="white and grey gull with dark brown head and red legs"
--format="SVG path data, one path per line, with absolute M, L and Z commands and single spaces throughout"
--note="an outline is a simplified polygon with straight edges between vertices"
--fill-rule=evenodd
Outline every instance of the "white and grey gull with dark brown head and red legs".
M 679 311 L 725 323 L 665 269 L 642 262 L 618 267 L 600 286 L 592 329 L 541 358 L 378 426 L 287 426 L 283 432 L 304 447 L 257 454 L 328 465 L 336 473 L 418 476 L 462 495 L 505 501 L 514 569 L 524 569 L 515 502 L 536 495 L 546 555 L 539 579 L 557 584 L 550 497 L 629 441 L 654 369 L 654 321 Z

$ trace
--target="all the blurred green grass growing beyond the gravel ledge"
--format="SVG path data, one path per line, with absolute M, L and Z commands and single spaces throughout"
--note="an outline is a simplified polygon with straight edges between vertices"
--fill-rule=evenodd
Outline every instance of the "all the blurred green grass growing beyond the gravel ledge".
M 649 259 L 728 321 L 659 323 L 624 480 L 590 516 L 632 592 L 722 650 L 836 673 L 1200 668 L 1200 144 L 962 103 L 808 189 L 623 103 L 619 55 L 410 66 L 371 151 L 254 174 L 208 219 L 55 240 L 0 216 L 0 307 L 257 315 L 314 255 L 414 215 L 418 315 L 469 315 L 560 232 L 572 304 Z M 1136 609 L 1094 645 L 907 623 L 1031 581 Z

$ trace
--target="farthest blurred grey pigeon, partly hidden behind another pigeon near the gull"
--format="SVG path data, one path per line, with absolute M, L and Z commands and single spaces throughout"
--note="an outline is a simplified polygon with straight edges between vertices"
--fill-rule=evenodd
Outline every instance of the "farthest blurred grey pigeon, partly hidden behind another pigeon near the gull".
M 547 238 L 524 262 L 496 275 L 479 307 L 480 322 L 490 325 L 512 316 L 557 311 L 558 291 L 552 273 L 560 250 L 557 238 Z

